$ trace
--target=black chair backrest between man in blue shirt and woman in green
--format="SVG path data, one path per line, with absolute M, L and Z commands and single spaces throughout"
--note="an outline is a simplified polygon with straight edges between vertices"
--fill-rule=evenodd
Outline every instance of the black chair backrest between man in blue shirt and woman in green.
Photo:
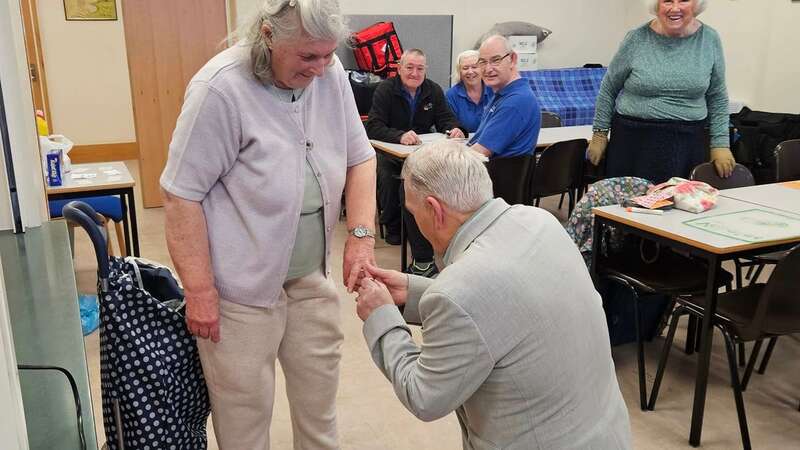
M 586 139 L 573 139 L 545 148 L 533 169 L 530 197 L 560 194 L 580 186 L 587 145 Z

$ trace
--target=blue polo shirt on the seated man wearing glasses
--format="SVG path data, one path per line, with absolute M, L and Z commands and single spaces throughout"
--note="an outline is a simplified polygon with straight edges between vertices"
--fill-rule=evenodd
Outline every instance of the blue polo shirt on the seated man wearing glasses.
M 541 114 L 528 80 L 514 80 L 495 92 L 468 145 L 481 144 L 492 158 L 531 154 L 539 139 Z

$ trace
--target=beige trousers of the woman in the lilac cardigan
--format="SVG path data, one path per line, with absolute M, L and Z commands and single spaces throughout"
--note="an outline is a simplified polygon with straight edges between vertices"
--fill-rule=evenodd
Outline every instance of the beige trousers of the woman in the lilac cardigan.
M 343 339 L 336 288 L 321 270 L 287 281 L 274 308 L 220 301 L 220 341 L 197 341 L 219 448 L 269 449 L 276 357 L 286 377 L 294 448 L 338 448 Z

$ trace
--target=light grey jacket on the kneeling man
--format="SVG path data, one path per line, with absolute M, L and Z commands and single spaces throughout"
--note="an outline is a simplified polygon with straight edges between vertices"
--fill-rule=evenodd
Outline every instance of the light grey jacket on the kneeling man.
M 409 276 L 405 317 L 387 305 L 364 323 L 409 411 L 456 411 L 465 449 L 631 447 L 600 295 L 550 213 L 491 200 L 444 264 L 434 280 Z M 406 320 L 422 323 L 422 347 Z

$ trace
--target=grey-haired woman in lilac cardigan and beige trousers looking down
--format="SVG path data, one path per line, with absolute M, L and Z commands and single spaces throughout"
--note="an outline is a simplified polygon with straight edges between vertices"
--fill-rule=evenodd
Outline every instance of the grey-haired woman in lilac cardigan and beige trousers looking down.
M 349 289 L 373 261 L 375 155 L 334 56 L 336 0 L 269 0 L 194 76 L 161 177 L 220 448 L 269 448 L 275 359 L 294 448 L 338 448 L 339 302 L 331 241 L 342 192 Z

